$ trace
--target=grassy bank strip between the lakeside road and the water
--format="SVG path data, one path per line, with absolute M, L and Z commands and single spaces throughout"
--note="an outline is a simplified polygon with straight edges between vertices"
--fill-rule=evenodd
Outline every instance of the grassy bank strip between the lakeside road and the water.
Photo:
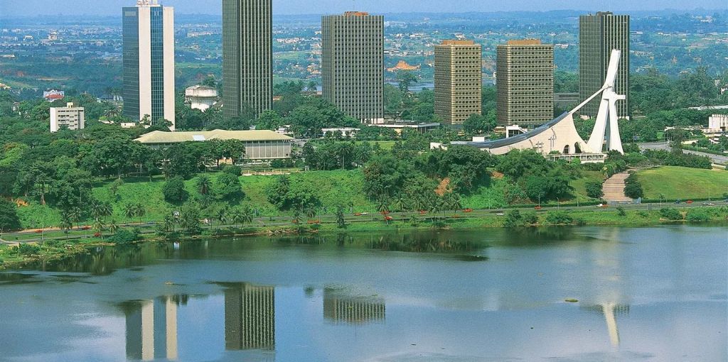
M 542 227 L 553 225 L 623 225 L 623 226 L 649 226 L 675 223 L 713 223 L 724 225 L 728 222 L 728 207 L 692 207 L 674 209 L 681 220 L 667 220 L 658 209 L 550 209 L 536 213 L 536 223 L 529 227 Z M 523 211 L 523 214 L 531 212 Z M 222 238 L 229 236 L 266 236 L 266 235 L 306 235 L 315 233 L 386 233 L 397 230 L 478 230 L 487 228 L 502 228 L 507 216 L 487 214 L 479 217 L 467 217 L 463 214 L 447 213 L 438 216 L 422 216 L 419 214 L 396 216 L 394 220 L 386 222 L 376 215 L 372 219 L 349 222 L 346 228 L 338 228 L 333 221 L 323 221 L 321 225 L 283 225 L 267 226 L 261 220 L 242 227 L 203 228 L 198 236 L 182 234 L 160 236 L 148 230 L 140 236 L 138 242 L 179 240 L 182 238 Z M 554 222 L 553 220 L 566 220 Z M 58 260 L 74 254 L 85 252 L 89 246 L 113 245 L 101 238 L 84 238 L 84 231 L 73 231 L 67 237 L 58 240 L 47 240 L 43 245 L 7 246 L 0 245 L 0 268 L 17 268 L 27 262 L 37 260 Z

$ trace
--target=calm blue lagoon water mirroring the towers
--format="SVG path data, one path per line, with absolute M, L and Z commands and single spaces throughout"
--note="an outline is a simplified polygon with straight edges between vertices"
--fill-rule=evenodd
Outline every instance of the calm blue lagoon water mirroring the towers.
M 727 361 L 727 260 L 687 226 L 98 248 L 0 274 L 0 361 Z

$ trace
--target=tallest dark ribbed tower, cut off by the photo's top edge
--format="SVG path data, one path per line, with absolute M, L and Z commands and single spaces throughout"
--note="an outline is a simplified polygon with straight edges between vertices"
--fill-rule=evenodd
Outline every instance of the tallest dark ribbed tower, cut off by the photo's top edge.
M 272 0 L 223 0 L 223 115 L 273 108 Z

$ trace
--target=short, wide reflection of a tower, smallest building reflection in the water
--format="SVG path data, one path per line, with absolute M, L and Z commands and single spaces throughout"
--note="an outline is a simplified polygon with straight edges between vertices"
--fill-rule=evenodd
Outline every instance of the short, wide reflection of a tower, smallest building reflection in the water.
M 323 290 L 323 318 L 332 323 L 384 322 L 386 312 L 384 299 L 351 295 L 345 289 Z

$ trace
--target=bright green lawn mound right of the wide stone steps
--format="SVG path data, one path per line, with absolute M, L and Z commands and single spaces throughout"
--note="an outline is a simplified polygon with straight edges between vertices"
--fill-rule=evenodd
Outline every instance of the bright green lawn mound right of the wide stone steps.
M 722 198 L 728 193 L 728 172 L 711 169 L 661 166 L 637 173 L 645 198 L 657 200 L 660 194 L 668 199 Z

